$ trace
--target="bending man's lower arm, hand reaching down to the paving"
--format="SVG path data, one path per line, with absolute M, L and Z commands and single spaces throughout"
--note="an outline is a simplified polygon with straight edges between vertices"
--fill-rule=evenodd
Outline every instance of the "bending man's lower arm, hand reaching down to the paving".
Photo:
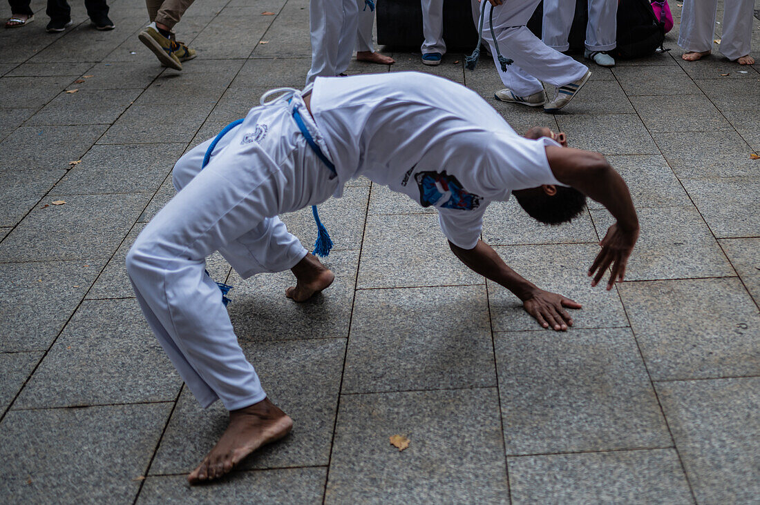
M 515 296 L 522 300 L 525 311 L 535 317 L 544 328 L 552 327 L 559 331 L 572 326 L 572 317 L 565 311 L 565 307 L 581 308 L 581 304 L 562 295 L 544 291 L 533 282 L 524 279 L 508 267 L 486 242 L 479 240 L 474 248 L 463 249 L 449 241 L 448 247 L 467 267 L 515 293 Z

